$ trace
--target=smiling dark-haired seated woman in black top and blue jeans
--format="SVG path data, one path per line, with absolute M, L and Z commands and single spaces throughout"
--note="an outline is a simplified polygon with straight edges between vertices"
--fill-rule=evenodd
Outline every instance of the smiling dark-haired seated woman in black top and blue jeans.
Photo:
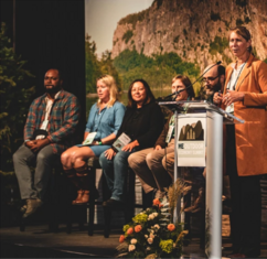
M 130 142 L 121 149 L 108 149 L 99 158 L 107 185 L 111 191 L 111 197 L 104 202 L 104 206 L 124 204 L 128 157 L 138 150 L 152 147 L 163 127 L 163 115 L 146 80 L 136 79 L 131 83 L 128 99 L 117 139 L 124 133 L 130 138 Z

